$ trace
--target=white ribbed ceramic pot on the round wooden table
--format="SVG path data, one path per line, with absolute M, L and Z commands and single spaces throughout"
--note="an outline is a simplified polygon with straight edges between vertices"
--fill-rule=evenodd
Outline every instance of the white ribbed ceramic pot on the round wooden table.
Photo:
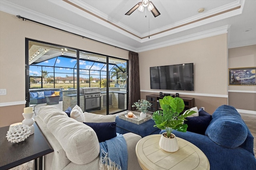
M 159 146 L 166 152 L 176 152 L 179 149 L 176 136 L 172 133 L 172 135 L 174 135 L 174 138 L 166 138 L 164 137 L 165 133 L 162 133 L 160 137 Z

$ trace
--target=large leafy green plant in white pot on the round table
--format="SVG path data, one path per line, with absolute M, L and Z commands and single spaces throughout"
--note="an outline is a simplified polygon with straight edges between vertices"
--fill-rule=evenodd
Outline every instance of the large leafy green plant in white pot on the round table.
M 186 132 L 188 125 L 184 124 L 184 120 L 186 120 L 186 117 L 196 112 L 187 110 L 180 114 L 185 107 L 182 98 L 165 96 L 163 99 L 159 100 L 159 103 L 162 110 L 155 111 L 152 116 L 152 119 L 156 123 L 154 127 L 166 130 L 165 133 L 162 133 L 159 145 L 167 152 L 176 152 L 178 150 L 178 143 L 172 131 Z

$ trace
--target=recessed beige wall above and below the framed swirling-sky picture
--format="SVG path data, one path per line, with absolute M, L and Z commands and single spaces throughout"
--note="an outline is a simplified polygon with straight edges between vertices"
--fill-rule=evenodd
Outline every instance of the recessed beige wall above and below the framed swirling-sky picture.
M 255 67 L 256 45 L 228 49 L 228 68 Z M 256 113 L 256 86 L 228 86 L 228 104 Z

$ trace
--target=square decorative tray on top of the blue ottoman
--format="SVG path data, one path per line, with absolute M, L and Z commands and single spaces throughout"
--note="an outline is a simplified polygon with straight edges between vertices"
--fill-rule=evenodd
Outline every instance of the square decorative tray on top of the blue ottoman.
M 140 125 L 141 123 L 144 123 L 145 121 L 148 121 L 149 119 L 151 119 L 151 115 L 146 115 L 146 117 L 144 119 L 140 118 L 140 113 L 132 111 L 133 113 L 133 117 L 128 117 L 128 112 L 130 111 L 126 111 L 126 113 L 123 113 L 121 115 L 119 115 L 119 119 L 123 119 L 126 121 L 130 121 L 132 123 L 135 123 L 137 125 Z

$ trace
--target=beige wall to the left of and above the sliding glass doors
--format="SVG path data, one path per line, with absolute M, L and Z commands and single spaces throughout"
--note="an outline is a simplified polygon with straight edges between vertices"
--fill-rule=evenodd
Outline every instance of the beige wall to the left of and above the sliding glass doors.
M 0 12 L 0 38 L 0 88 L 7 90 L 7 95 L 0 96 L 4 106 L 0 107 L 0 127 L 10 125 L 10 119 L 14 123 L 22 120 L 19 115 L 20 108 L 25 107 L 25 38 L 128 59 L 126 50 L 22 21 L 5 12 Z

